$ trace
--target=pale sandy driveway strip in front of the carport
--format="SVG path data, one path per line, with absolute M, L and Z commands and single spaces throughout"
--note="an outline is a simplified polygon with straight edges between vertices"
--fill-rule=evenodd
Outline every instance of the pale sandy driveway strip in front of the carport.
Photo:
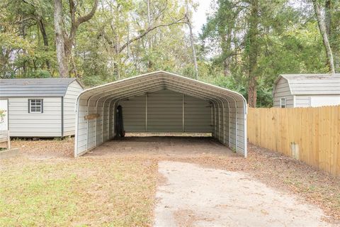
M 321 209 L 241 172 L 159 162 L 154 226 L 330 226 Z

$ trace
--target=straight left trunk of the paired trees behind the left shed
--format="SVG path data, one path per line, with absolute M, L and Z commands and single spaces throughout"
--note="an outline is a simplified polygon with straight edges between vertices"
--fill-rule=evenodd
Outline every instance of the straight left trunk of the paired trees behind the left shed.
M 55 48 L 60 77 L 69 77 L 69 65 L 65 54 L 65 41 L 62 34 L 62 0 L 55 0 Z

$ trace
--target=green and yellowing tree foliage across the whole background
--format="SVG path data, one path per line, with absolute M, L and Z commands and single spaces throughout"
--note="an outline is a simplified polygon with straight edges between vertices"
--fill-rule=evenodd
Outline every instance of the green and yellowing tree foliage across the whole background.
M 78 16 L 88 13 L 94 2 L 75 1 Z M 309 2 L 297 6 L 288 0 L 256 1 L 258 106 L 271 106 L 278 74 L 327 72 L 327 59 Z M 69 2 L 62 2 L 64 26 L 69 28 Z M 196 1 L 188 2 L 196 7 Z M 196 40 L 200 80 L 244 96 L 254 47 L 249 39 L 249 25 L 254 21 L 250 4 L 246 0 L 213 1 L 212 13 Z M 71 77 L 79 77 L 87 87 L 155 70 L 194 78 L 187 25 L 181 20 L 186 13 L 184 1 L 150 1 L 149 13 L 147 1 L 103 0 L 99 5 L 95 16 L 77 29 L 69 62 Z M 0 6 L 0 77 L 58 77 L 53 1 L 4 0 Z M 332 1 L 331 16 L 330 43 L 339 62 L 337 1 Z M 162 26 L 176 20 L 179 23 Z M 160 27 L 144 34 L 152 26 Z

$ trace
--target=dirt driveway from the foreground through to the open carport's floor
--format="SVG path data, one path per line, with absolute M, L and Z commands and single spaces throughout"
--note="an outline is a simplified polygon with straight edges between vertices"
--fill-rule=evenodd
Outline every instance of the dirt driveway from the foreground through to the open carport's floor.
M 112 154 L 159 159 L 157 227 L 331 226 L 319 206 L 240 171 L 249 168 L 249 160 L 210 138 L 124 138 L 105 143 L 89 155 Z

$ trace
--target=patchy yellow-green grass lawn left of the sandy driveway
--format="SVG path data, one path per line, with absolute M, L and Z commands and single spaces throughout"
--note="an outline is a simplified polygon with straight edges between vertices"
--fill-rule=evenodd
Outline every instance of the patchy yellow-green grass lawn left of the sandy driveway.
M 157 163 L 0 160 L 0 226 L 151 226 Z

